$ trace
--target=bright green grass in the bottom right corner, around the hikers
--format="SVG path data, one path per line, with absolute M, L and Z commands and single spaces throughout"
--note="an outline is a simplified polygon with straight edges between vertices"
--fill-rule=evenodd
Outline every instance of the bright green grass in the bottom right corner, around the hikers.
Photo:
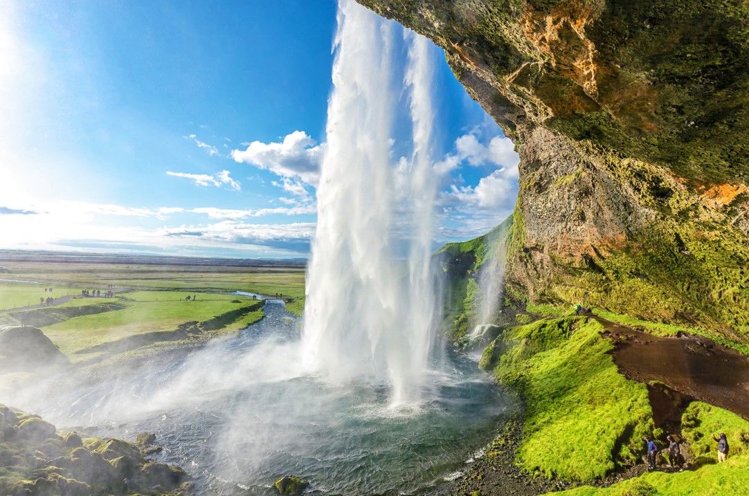
M 652 472 L 610 488 L 581 487 L 560 496 L 744 496 L 749 488 L 749 422 L 721 408 L 694 402 L 682 415 L 682 435 L 695 455 L 694 471 Z M 728 460 L 717 464 L 712 434 L 727 435 Z

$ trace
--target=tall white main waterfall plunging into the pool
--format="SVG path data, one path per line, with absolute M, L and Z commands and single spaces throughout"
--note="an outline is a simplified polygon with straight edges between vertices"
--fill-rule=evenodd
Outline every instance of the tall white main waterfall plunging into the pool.
M 430 259 L 437 188 L 431 58 L 425 39 L 402 34 L 353 0 L 339 2 L 338 23 L 307 277 L 305 361 L 336 382 L 387 382 L 400 404 L 419 399 L 439 296 Z M 399 41 L 408 46 L 405 74 Z M 396 165 L 392 137 L 404 88 L 413 151 Z M 407 263 L 395 261 L 394 233 L 406 238 Z

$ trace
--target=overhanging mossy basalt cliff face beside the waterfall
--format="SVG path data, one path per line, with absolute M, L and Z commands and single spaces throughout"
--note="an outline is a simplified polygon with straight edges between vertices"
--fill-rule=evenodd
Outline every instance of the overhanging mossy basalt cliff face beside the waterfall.
M 515 141 L 506 284 L 749 343 L 749 3 L 357 0 Z

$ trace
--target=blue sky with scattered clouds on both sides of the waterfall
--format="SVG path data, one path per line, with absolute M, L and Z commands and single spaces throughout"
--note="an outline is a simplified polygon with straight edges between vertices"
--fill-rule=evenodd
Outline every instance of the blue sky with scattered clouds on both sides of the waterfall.
M 1 2 L 0 249 L 307 257 L 335 28 L 332 0 Z M 517 156 L 434 61 L 438 245 L 509 215 Z

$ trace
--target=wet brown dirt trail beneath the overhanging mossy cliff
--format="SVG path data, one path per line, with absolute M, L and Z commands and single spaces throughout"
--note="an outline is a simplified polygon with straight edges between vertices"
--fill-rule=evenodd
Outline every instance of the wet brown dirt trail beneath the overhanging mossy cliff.
M 657 337 L 598 316 L 592 318 L 604 325 L 604 336 L 615 343 L 611 355 L 629 379 L 663 382 L 683 396 L 676 402 L 682 408 L 698 399 L 749 420 L 749 359 L 739 352 L 702 336 Z M 655 393 L 651 391 L 651 400 Z M 664 410 L 661 407 L 666 405 L 658 403 L 653 405 L 653 413 L 661 420 L 673 420 L 677 412 Z

